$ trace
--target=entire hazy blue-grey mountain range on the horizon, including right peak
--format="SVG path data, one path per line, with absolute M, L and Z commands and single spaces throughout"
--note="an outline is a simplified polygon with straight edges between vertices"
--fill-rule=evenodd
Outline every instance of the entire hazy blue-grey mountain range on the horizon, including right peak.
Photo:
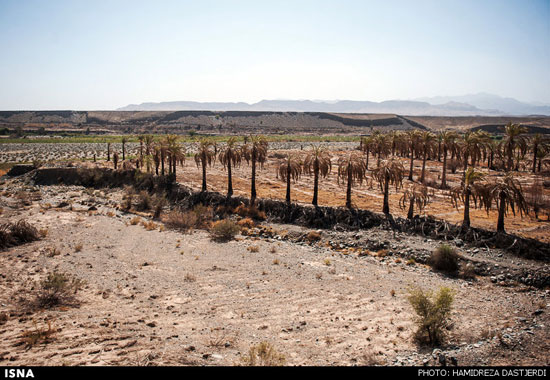
M 174 101 L 130 104 L 117 111 L 273 111 L 273 112 L 335 112 L 390 113 L 410 116 L 502 116 L 549 115 L 550 104 L 532 104 L 513 98 L 479 93 L 462 96 L 436 96 L 414 100 L 324 101 L 324 100 L 262 100 L 244 102 Z

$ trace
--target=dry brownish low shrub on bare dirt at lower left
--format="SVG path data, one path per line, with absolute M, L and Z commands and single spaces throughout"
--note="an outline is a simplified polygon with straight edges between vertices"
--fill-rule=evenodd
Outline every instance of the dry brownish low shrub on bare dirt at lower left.
M 36 297 L 36 306 L 49 309 L 61 305 L 76 305 L 76 292 L 83 283 L 75 277 L 60 272 L 48 274 L 40 284 Z

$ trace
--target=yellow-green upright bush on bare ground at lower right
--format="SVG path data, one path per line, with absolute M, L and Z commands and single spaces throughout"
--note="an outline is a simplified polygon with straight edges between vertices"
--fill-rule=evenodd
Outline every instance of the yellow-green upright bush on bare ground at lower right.
M 449 326 L 454 292 L 446 287 L 441 287 L 437 294 L 413 288 L 409 290 L 407 299 L 417 314 L 415 323 L 418 330 L 415 340 L 432 346 L 443 343 L 445 329 Z

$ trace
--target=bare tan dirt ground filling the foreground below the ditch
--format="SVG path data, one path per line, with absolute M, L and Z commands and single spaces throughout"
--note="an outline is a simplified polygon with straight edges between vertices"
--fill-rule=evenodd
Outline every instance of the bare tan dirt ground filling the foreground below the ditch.
M 30 205 L 18 203 L 17 186 L 32 194 Z M 119 210 L 121 191 L 25 186 L 2 184 L 0 220 L 24 218 L 47 235 L 0 252 L 3 365 L 233 365 L 261 341 L 288 365 L 437 365 L 438 350 L 459 365 L 550 365 L 548 290 L 449 278 L 321 244 L 146 230 Z M 84 281 L 80 304 L 25 309 L 20 298 L 35 296 L 54 270 Z M 456 292 L 448 344 L 435 351 L 413 343 L 411 285 Z M 50 339 L 22 343 L 48 321 Z

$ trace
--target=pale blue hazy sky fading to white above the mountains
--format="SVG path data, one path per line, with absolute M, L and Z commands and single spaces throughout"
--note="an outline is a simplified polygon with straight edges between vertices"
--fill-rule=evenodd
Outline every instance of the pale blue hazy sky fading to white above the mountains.
M 550 103 L 550 0 L 0 0 L 0 110 L 488 92 Z

